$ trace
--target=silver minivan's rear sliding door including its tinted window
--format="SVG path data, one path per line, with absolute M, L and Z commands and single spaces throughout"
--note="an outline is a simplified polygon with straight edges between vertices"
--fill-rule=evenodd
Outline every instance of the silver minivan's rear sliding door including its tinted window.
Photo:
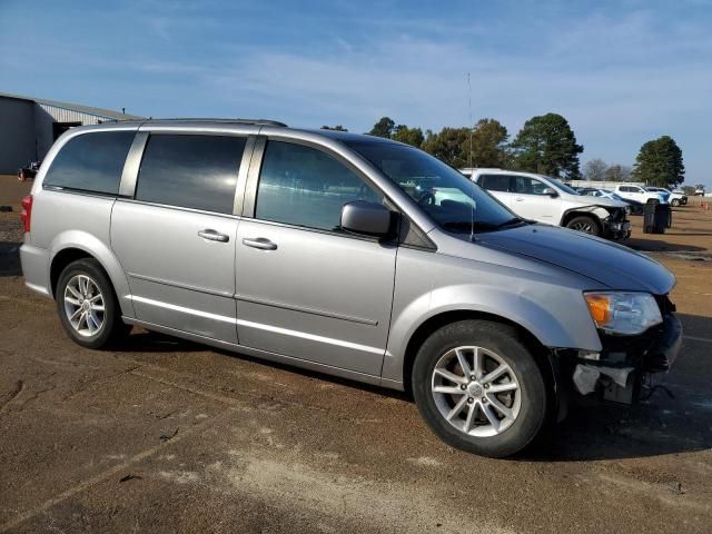
M 146 134 L 139 134 L 139 136 Z M 111 246 L 139 320 L 237 343 L 234 216 L 247 136 L 151 132 Z

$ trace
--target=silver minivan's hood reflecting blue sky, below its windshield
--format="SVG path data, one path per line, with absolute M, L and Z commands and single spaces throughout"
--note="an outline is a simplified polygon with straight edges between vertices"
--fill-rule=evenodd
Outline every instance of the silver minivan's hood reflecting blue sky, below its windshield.
M 675 277 L 657 261 L 627 247 L 578 231 L 527 225 L 477 235 L 477 244 L 563 267 L 611 289 L 669 293 Z

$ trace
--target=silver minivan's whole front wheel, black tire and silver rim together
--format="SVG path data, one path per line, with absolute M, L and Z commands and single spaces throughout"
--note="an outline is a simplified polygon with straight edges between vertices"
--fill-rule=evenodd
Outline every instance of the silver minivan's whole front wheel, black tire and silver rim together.
M 418 350 L 412 380 L 429 427 L 463 451 L 513 455 L 546 421 L 544 376 L 510 325 L 463 320 L 442 327 Z

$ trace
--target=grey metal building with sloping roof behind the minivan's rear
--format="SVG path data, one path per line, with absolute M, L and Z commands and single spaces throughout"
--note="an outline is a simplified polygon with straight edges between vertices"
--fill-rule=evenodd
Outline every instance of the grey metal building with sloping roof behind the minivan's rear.
M 0 92 L 0 174 L 14 174 L 29 161 L 41 160 L 55 140 L 71 127 L 141 118 L 109 109 Z

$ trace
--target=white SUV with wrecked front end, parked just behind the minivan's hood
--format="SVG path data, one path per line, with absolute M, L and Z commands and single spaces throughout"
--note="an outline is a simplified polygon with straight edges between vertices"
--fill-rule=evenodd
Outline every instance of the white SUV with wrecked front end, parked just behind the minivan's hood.
M 555 178 L 502 169 L 461 169 L 520 217 L 609 239 L 631 235 L 625 204 L 578 195 Z

